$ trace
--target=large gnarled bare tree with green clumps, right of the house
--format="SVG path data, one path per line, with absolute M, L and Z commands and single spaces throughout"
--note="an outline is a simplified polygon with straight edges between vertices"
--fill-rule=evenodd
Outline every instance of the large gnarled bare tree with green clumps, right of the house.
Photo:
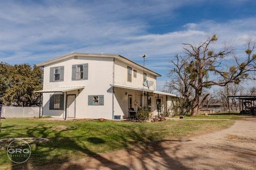
M 246 56 L 243 61 L 240 61 L 241 57 L 236 56 L 229 47 L 223 47 L 217 52 L 211 49 L 211 45 L 217 40 L 217 36 L 213 35 L 202 44 L 199 44 L 199 46 L 183 44 L 185 45 L 183 49 L 186 53 L 186 61 L 179 62 L 179 57 L 177 56 L 177 62 L 173 63 L 178 69 L 183 69 L 183 65 L 187 64 L 186 69 L 184 71 L 181 69 L 181 71 L 186 73 L 189 87 L 194 90 L 191 115 L 197 114 L 206 98 L 210 95 L 203 94 L 204 89 L 212 86 L 224 87 L 228 83 L 238 84 L 240 81 L 249 78 L 250 72 L 256 71 L 256 54 L 253 54 L 255 43 L 252 40 L 248 40 L 246 43 Z M 233 58 L 234 65 L 225 67 L 222 62 L 226 57 Z M 180 74 L 179 70 L 173 69 L 171 72 L 175 73 L 176 77 L 174 79 L 182 80 L 183 74 Z

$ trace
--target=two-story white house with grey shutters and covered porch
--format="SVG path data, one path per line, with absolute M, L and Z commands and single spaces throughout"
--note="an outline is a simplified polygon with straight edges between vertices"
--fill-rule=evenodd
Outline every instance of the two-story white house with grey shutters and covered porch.
M 43 115 L 63 118 L 126 118 L 148 104 L 156 115 L 157 103 L 170 107 L 173 94 L 156 91 L 161 75 L 121 55 L 71 53 L 37 64 L 44 69 Z M 143 81 L 153 86 L 143 87 Z M 144 98 L 142 91 L 144 89 Z

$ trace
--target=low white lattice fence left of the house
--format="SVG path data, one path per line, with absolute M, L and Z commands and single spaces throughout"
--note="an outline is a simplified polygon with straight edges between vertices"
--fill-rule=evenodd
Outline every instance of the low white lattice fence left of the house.
M 3 106 L 1 117 L 5 117 L 5 118 L 39 117 L 39 107 Z

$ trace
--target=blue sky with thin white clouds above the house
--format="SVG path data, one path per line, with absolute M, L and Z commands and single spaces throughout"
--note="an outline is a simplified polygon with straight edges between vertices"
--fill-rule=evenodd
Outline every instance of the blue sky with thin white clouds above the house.
M 217 48 L 256 39 L 256 1 L 0 1 L 0 60 L 36 64 L 70 52 L 121 54 L 162 74 L 213 33 Z

